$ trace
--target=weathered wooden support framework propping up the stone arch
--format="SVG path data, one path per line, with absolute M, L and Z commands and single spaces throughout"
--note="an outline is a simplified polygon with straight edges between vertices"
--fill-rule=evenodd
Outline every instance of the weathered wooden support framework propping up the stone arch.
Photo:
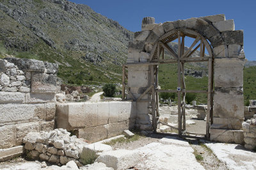
M 185 37 L 195 38 L 194 42 L 191 44 L 188 50 L 185 51 Z M 177 40 L 178 39 L 178 40 Z M 178 52 L 176 53 L 168 43 L 177 40 L 178 42 Z M 198 44 L 199 43 L 199 44 Z M 198 44 L 196 47 L 195 45 Z M 194 48 L 195 47 L 195 48 Z M 193 49 L 194 48 L 194 49 Z M 192 57 L 191 55 L 200 49 L 200 57 Z M 205 55 L 205 49 L 207 50 L 209 56 Z M 168 52 L 172 57 L 164 58 L 164 50 Z M 133 101 L 140 101 L 145 94 L 150 94 L 150 105 L 152 108 L 152 126 L 154 132 L 156 132 L 157 121 L 159 119 L 159 93 L 169 92 L 177 93 L 178 96 L 178 130 L 179 135 L 193 134 L 186 131 L 186 116 L 185 116 L 185 97 L 186 93 L 207 93 L 207 120 L 206 120 L 206 136 L 209 138 L 209 128 L 212 124 L 213 119 L 213 52 L 212 48 L 207 42 L 204 36 L 191 31 L 190 29 L 178 29 L 170 31 L 159 38 L 159 40 L 154 44 L 152 52 L 150 53 L 150 58 L 148 62 L 143 63 L 127 63 L 123 66 L 123 79 L 122 79 L 122 98 L 125 99 L 125 89 L 131 96 Z M 187 90 L 185 77 L 184 77 L 184 63 L 186 62 L 208 62 L 208 84 L 207 90 Z M 177 89 L 158 89 L 158 71 L 159 65 L 166 63 L 177 63 L 178 81 Z M 127 72 L 125 71 L 129 65 L 141 66 L 147 65 L 150 67 L 150 84 L 149 87 L 144 91 L 140 97 L 135 98 L 129 91 L 129 87 L 125 83 L 128 79 Z

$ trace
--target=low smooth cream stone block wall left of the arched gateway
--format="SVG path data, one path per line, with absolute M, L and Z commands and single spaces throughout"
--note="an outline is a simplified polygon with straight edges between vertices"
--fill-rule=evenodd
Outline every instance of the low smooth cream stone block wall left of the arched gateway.
M 74 130 L 77 137 L 100 141 L 134 127 L 134 102 L 79 102 L 56 105 L 56 127 Z

